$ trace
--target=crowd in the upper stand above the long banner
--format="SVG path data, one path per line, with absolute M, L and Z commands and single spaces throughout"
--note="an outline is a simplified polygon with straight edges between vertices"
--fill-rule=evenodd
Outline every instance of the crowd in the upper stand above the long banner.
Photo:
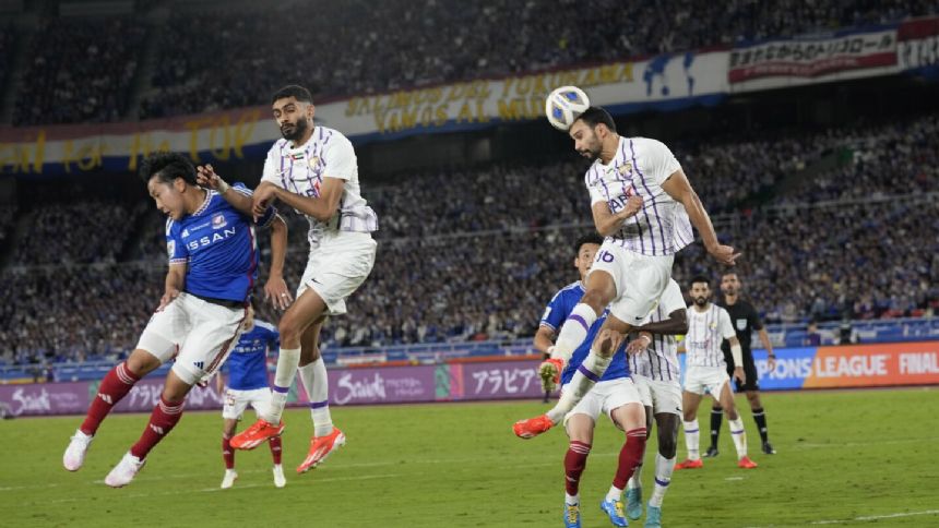
M 590 9 L 573 0 L 180 8 L 148 37 L 157 44 L 151 86 L 139 87 L 142 118 L 264 104 L 285 80 L 309 85 L 318 99 L 373 94 L 939 12 L 927 0 L 736 0 L 721 10 L 705 0 L 628 5 L 602 0 Z M 146 8 L 140 10 L 133 16 L 44 19 L 23 43 L 27 63 L 13 123 L 127 117 L 131 82 L 153 24 Z M 13 38 L 12 31 L 0 38 L 0 65 Z M 0 77 L 5 70 L 0 68 Z M 297 72 L 304 72 L 301 79 Z

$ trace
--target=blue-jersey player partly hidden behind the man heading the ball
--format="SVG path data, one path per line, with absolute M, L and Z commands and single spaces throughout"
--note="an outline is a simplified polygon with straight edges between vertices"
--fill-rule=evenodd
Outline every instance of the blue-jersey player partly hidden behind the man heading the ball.
M 583 280 L 602 244 L 603 239 L 597 235 L 584 236 L 577 241 L 574 267 L 580 272 L 581 280 L 561 288 L 545 309 L 538 333 L 535 336 L 535 348 L 542 352 L 550 353 L 558 328 L 570 316 L 571 311 L 583 297 Z M 590 327 L 587 338 L 571 356 L 570 362 L 560 376 L 564 387 L 562 389 L 567 389 L 574 372 L 579 370 L 583 372 L 581 365 L 584 358 L 590 353 L 590 346 L 603 326 L 605 317 L 606 314 L 597 319 Z M 642 460 L 642 453 L 645 447 L 645 411 L 629 375 L 625 348 L 625 346 L 617 347 L 609 368 L 603 376 L 596 380 L 597 384 L 564 417 L 564 427 L 570 437 L 568 452 L 564 455 L 563 517 L 564 525 L 568 527 L 581 526 L 580 478 L 586 467 L 587 455 L 590 455 L 593 443 L 594 427 L 601 413 L 607 415 L 619 429 L 626 431 L 626 443 L 619 454 L 616 477 L 609 492 L 601 503 L 601 508 L 609 516 L 614 526 L 627 526 L 622 505 L 622 490 Z M 550 391 L 557 380 L 544 379 L 543 382 L 544 388 Z

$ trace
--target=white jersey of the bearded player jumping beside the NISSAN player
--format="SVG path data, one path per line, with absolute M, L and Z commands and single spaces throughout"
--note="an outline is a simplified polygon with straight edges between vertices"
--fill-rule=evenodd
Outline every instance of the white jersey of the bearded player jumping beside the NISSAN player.
M 360 194 L 355 149 L 348 139 L 336 130 L 317 125 L 309 141 L 297 148 L 293 148 L 287 140 L 278 140 L 268 151 L 261 180 L 301 196 L 317 197 L 323 177 L 344 180 L 343 195 L 338 209 L 329 221 L 305 215 L 310 223 L 307 236 L 310 248 L 319 247 L 326 231 L 377 231 L 378 216 Z

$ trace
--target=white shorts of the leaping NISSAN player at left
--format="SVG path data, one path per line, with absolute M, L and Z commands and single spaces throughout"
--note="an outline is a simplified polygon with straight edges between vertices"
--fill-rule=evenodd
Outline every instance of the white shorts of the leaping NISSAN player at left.
M 161 363 L 176 357 L 173 372 L 194 385 L 212 376 L 228 358 L 246 314 L 243 308 L 225 308 L 183 292 L 150 317 L 136 348 Z

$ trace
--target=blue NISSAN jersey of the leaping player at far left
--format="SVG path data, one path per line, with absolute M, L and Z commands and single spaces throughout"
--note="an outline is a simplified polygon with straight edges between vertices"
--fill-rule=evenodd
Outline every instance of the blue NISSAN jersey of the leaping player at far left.
M 241 183 L 231 188 L 251 195 Z M 275 216 L 269 207 L 258 225 L 266 227 Z M 166 220 L 166 252 L 170 264 L 188 264 L 185 289 L 200 297 L 243 302 L 258 279 L 253 221 L 215 191 L 206 191 L 195 213 Z

